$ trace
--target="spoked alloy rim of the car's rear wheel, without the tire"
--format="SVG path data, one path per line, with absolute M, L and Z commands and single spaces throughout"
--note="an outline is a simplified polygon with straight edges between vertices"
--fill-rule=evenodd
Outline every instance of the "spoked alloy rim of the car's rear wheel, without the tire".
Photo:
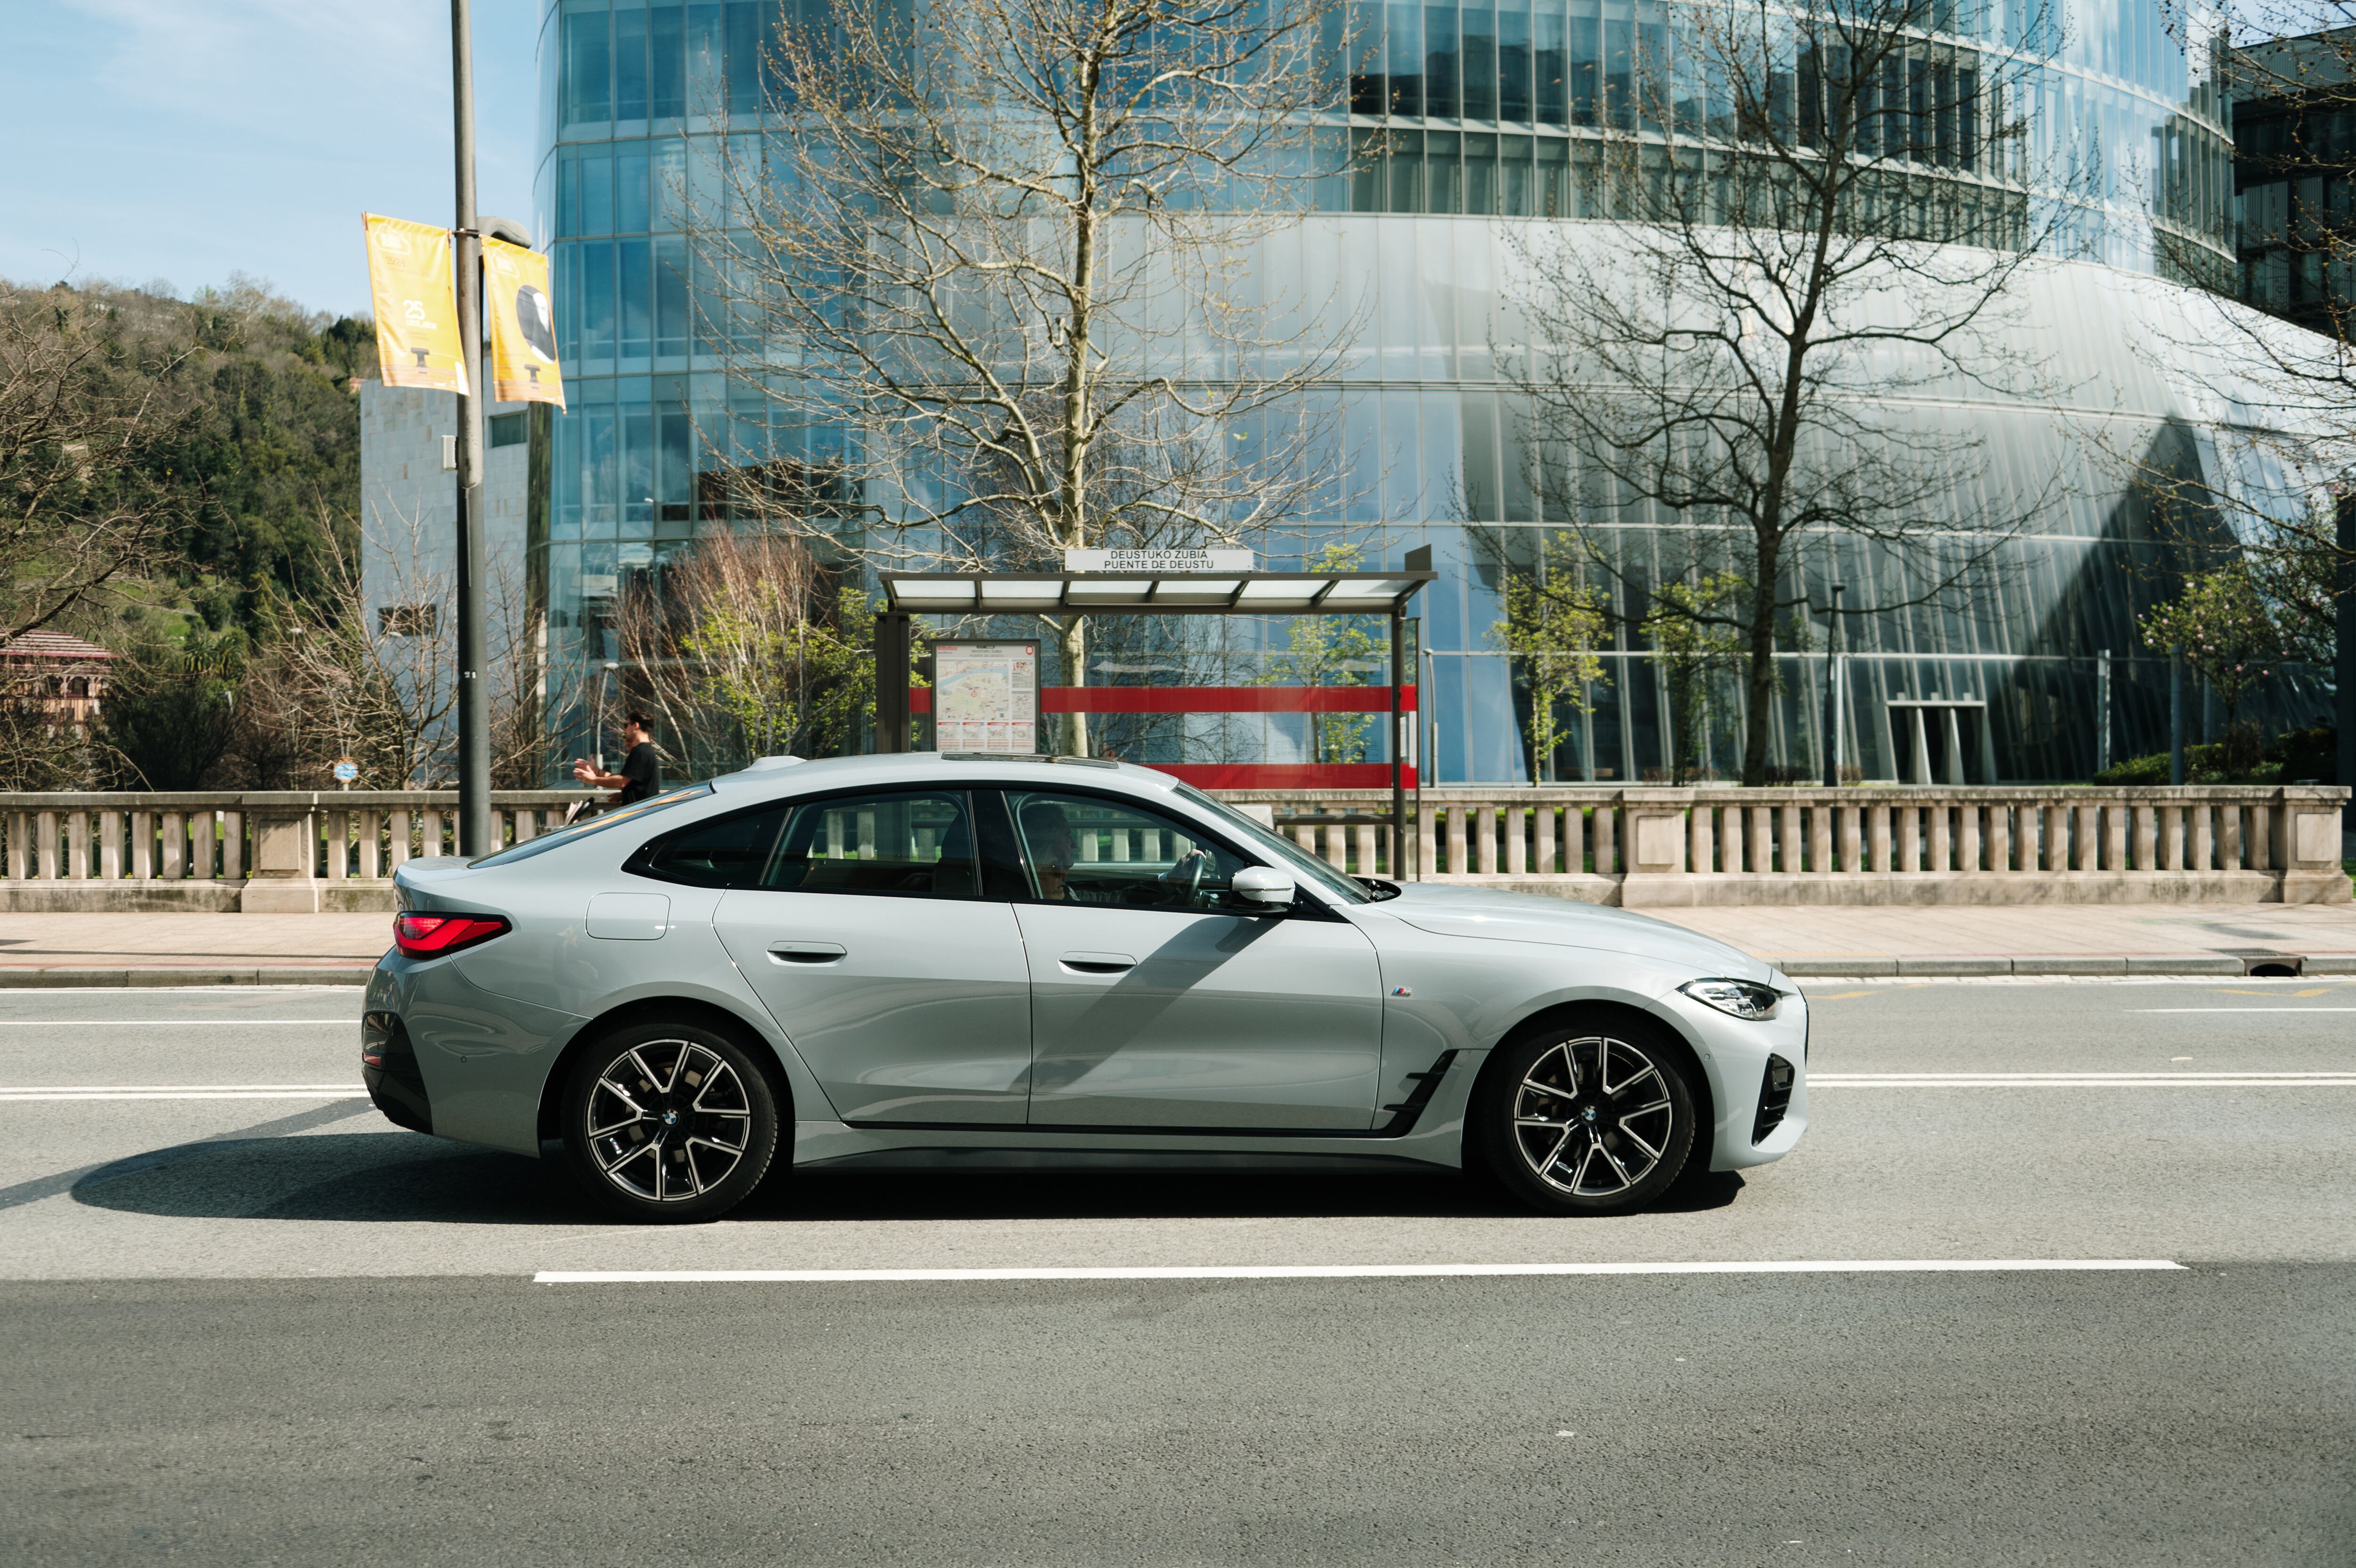
M 693 1040 L 648 1040 L 615 1056 L 589 1089 L 587 1122 L 596 1170 L 650 1203 L 702 1198 L 752 1148 L 744 1080 Z

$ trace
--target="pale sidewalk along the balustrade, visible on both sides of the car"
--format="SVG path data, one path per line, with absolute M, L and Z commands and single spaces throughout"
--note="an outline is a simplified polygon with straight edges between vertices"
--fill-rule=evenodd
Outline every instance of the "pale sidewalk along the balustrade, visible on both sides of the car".
M 2356 908 L 2321 903 L 1647 910 L 1833 974 L 2356 974 Z M 0 915 L 0 986 L 360 983 L 391 915 Z

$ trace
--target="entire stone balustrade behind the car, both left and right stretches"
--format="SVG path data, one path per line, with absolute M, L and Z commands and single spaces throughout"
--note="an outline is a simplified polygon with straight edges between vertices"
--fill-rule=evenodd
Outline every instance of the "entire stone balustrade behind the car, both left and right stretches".
M 584 790 L 499 790 L 499 842 Z M 1383 790 L 1220 790 L 1397 877 Z M 2349 903 L 2344 788 L 1425 790 L 1407 877 L 1619 905 Z M 0 910 L 391 910 L 457 792 L 0 795 Z

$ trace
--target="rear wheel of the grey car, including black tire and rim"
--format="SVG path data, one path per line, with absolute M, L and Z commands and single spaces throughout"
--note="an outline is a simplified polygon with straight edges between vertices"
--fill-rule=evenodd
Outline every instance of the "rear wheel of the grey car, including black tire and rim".
M 777 1155 L 777 1099 L 752 1054 L 697 1023 L 631 1023 L 573 1061 L 565 1162 L 638 1224 L 719 1219 Z

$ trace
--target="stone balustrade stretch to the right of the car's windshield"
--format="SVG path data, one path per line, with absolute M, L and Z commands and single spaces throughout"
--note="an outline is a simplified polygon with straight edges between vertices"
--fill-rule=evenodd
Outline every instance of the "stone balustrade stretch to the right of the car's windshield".
M 1312 854 L 1399 875 L 1378 790 L 1220 790 Z M 1414 865 L 1619 905 L 2349 903 L 2349 790 L 1484 788 L 1425 790 Z

